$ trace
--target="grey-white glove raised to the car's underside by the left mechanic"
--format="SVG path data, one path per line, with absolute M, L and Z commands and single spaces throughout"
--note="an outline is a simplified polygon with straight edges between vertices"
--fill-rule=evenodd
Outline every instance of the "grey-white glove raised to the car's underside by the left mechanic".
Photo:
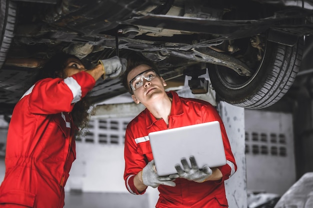
M 113 56 L 108 59 L 98 60 L 98 64 L 101 64 L 104 70 L 104 75 L 102 79 L 106 78 L 117 78 L 122 75 L 127 66 L 127 60 L 125 58 L 119 58 L 118 56 Z

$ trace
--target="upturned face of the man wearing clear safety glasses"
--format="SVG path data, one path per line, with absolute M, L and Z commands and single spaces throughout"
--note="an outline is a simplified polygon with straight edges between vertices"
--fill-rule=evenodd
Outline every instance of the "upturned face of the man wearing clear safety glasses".
M 140 102 L 145 104 L 152 101 L 151 98 L 165 93 L 164 86 L 166 86 L 166 83 L 163 78 L 148 69 L 151 69 L 151 67 L 142 64 L 133 68 L 127 75 L 127 82 L 130 83 L 131 81 L 130 84 L 133 85 L 134 89 L 132 89 L 133 95 L 131 97 L 137 104 Z M 154 75 L 155 77 L 153 77 Z

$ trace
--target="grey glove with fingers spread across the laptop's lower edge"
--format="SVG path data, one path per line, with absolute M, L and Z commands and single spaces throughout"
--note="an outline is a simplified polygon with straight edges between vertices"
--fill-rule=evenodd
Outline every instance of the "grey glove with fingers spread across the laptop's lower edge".
M 189 168 L 189 165 L 185 158 L 181 159 L 181 165 L 183 167 L 183 170 L 181 169 L 179 164 L 175 165 L 175 169 L 180 178 L 184 178 L 197 183 L 202 183 L 205 181 L 205 179 L 212 175 L 212 170 L 206 165 L 202 167 L 202 170 L 200 170 L 193 156 L 190 156 L 189 160 L 191 164 L 191 169 Z M 169 177 L 171 178 L 171 176 Z

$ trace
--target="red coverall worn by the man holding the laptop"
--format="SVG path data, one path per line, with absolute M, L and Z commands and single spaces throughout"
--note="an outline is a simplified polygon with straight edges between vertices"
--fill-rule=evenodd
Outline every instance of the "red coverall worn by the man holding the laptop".
M 218 167 L 223 175 L 219 181 L 196 183 L 185 179 L 176 179 L 174 181 L 175 187 L 160 185 L 156 208 L 227 207 L 224 180 L 234 174 L 237 167 L 220 116 L 215 108 L 205 101 L 181 98 L 175 92 L 168 92 L 167 94 L 173 99 L 168 117 L 168 129 L 219 121 L 227 164 Z M 145 192 L 138 193 L 133 185 L 133 178 L 153 159 L 148 133 L 165 129 L 167 129 L 166 123 L 162 119 L 156 120 L 147 109 L 143 110 L 128 124 L 125 134 L 124 180 L 126 188 L 131 194 L 138 195 Z

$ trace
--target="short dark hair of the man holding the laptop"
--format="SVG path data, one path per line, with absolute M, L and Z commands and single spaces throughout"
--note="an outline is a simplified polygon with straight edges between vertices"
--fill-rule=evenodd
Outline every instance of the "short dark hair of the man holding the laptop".
M 127 82 L 127 75 L 128 73 L 134 69 L 135 67 L 141 65 L 141 64 L 145 64 L 148 66 L 151 66 L 155 73 L 160 76 L 160 73 L 157 69 L 157 66 L 154 62 L 152 62 L 151 60 L 145 58 L 143 55 L 139 54 L 139 53 L 131 53 L 127 56 L 127 67 L 126 67 L 126 71 L 123 73 L 123 75 L 120 77 L 120 81 L 122 83 L 122 85 L 127 89 L 127 91 L 130 94 L 133 94 L 129 83 Z

